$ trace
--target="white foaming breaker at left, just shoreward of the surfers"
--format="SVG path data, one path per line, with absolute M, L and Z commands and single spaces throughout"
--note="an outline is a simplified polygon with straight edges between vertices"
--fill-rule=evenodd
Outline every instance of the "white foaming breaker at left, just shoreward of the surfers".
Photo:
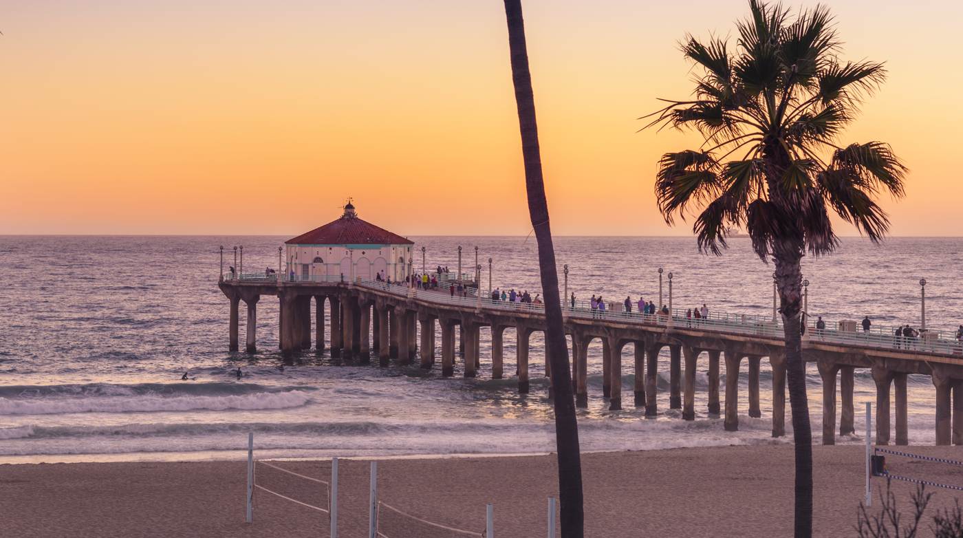
M 0 397 L 0 415 L 58 415 L 65 413 L 136 413 L 154 411 L 223 411 L 226 409 L 260 410 L 299 407 L 310 401 L 302 391 L 253 393 L 231 396 L 143 395 L 138 397 Z

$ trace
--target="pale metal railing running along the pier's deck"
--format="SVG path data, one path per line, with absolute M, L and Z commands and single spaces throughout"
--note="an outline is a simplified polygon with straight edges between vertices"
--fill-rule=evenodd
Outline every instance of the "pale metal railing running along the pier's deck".
M 239 275 L 244 281 L 276 281 L 276 273 L 244 273 Z M 285 282 L 296 283 L 344 283 L 363 288 L 379 290 L 398 296 L 407 296 L 420 300 L 429 301 L 437 304 L 451 305 L 458 308 L 474 309 L 478 306 L 487 310 L 498 310 L 503 312 L 531 312 L 534 314 L 544 314 L 545 306 L 534 302 L 511 302 L 496 300 L 491 296 L 486 296 L 482 292 L 479 297 L 476 288 L 465 287 L 464 294 L 451 293 L 451 288 L 456 286 L 456 282 L 442 280 L 438 282 L 436 288 L 421 289 L 410 287 L 407 282 L 387 282 L 364 279 L 355 277 L 354 282 L 351 278 L 343 275 L 287 275 Z M 638 323 L 645 325 L 656 325 L 663 327 L 674 327 L 679 329 L 701 329 L 718 331 L 725 333 L 744 334 L 752 336 L 782 339 L 784 337 L 782 320 L 772 320 L 767 316 L 732 314 L 725 312 L 710 312 L 707 318 L 687 317 L 687 311 L 676 308 L 671 314 L 641 314 L 638 311 L 627 312 L 619 303 L 606 303 L 609 308 L 614 305 L 616 308 L 611 310 L 600 310 L 591 308 L 585 301 L 577 301 L 573 307 L 570 301 L 563 301 L 562 309 L 570 318 L 581 320 L 612 320 L 623 323 Z M 928 330 L 919 337 L 904 337 L 896 334 L 897 326 L 874 325 L 872 330 L 864 331 L 862 326 L 857 326 L 858 320 L 838 324 L 836 328 L 816 328 L 817 320 L 809 318 L 806 322 L 807 339 L 811 343 L 840 344 L 844 346 L 862 346 L 875 348 L 888 348 L 895 350 L 912 350 L 919 352 L 931 352 L 941 354 L 963 355 L 963 341 L 957 339 L 957 335 L 950 331 Z M 843 330 L 840 325 L 844 325 L 852 330 Z

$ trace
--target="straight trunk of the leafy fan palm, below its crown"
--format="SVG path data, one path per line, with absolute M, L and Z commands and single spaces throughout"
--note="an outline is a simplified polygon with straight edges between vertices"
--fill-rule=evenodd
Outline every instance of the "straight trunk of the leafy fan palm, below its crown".
M 794 242 L 795 243 L 795 242 Z M 795 447 L 795 538 L 813 535 L 813 432 L 809 424 L 809 401 L 806 397 L 806 364 L 802 360 L 802 337 L 799 332 L 802 290 L 802 244 L 773 249 L 776 287 L 779 289 L 786 338 L 786 379 L 789 403 L 793 410 Z

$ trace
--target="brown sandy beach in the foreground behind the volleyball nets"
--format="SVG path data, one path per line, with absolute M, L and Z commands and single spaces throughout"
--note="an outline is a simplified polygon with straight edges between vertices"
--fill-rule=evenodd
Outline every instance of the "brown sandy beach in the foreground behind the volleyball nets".
M 815 535 L 854 536 L 864 448 L 814 449 Z M 959 448 L 912 449 L 960 454 Z M 963 484 L 960 467 L 888 460 L 892 472 Z M 278 465 L 322 478 L 330 473 L 329 461 Z M 340 461 L 340 536 L 367 536 L 369 465 Z M 254 523 L 245 524 L 246 468 L 245 461 L 0 465 L 0 536 L 328 536 L 324 514 L 262 493 Z M 557 494 L 556 473 L 554 454 L 391 459 L 378 463 L 378 488 L 389 504 L 477 532 L 484 505 L 492 502 L 496 535 L 528 538 L 546 535 L 546 499 Z M 325 502 L 321 486 L 286 476 L 259 470 L 259 479 L 282 493 Z M 789 445 L 583 454 L 583 476 L 586 536 L 792 535 Z M 884 484 L 874 479 L 874 487 Z M 914 487 L 893 486 L 906 501 Z M 932 508 L 950 505 L 957 494 L 931 491 Z M 389 538 L 455 536 L 400 525 L 390 514 L 382 522 Z

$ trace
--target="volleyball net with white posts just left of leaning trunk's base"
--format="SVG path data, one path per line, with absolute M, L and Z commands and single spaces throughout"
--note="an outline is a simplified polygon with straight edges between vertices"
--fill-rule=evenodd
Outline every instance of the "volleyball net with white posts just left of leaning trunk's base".
M 494 538 L 495 520 L 491 504 L 485 506 L 484 525 L 480 530 L 468 530 L 442 525 L 429 520 L 429 516 L 419 517 L 378 497 L 377 461 L 371 462 L 371 488 L 369 503 L 368 538 Z M 480 518 L 481 519 L 481 518 Z

